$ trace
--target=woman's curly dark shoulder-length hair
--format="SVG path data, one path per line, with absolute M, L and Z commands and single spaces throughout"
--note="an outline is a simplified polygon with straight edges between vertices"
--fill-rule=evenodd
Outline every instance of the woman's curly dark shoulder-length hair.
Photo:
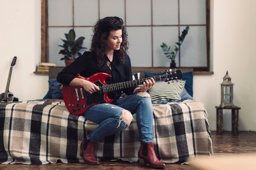
M 110 31 L 122 30 L 122 43 L 120 50 L 115 50 L 114 54 L 118 57 L 119 63 L 124 63 L 124 57 L 128 52 L 129 42 L 127 40 L 127 31 L 124 27 L 124 21 L 119 17 L 105 17 L 99 19 L 94 26 L 92 36 L 92 45 L 90 50 L 96 53 L 97 61 L 99 65 L 103 65 L 103 62 L 106 61 L 104 57 L 106 40 L 110 35 Z

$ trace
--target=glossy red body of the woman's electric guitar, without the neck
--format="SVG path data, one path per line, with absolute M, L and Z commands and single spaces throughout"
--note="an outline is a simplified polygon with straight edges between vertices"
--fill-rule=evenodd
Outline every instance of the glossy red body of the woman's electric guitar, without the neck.
M 98 86 L 107 85 L 106 78 L 111 77 L 110 74 L 99 72 L 88 78 L 76 75 L 77 78 L 88 80 Z M 108 92 L 101 91 L 89 94 L 81 86 L 65 86 L 63 85 L 63 99 L 65 106 L 70 113 L 74 115 L 83 114 L 89 107 L 101 103 L 111 103 L 113 99 L 108 98 Z

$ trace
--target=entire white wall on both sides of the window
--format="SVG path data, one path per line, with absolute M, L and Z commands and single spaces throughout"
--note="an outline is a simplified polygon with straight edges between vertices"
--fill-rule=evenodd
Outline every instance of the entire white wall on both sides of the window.
M 211 0 L 211 57 L 213 75 L 194 75 L 194 98 L 209 114 L 210 130 L 216 130 L 220 83 L 229 71 L 234 85 L 234 104 L 239 111 L 239 130 L 256 131 L 254 46 L 255 0 Z M 48 76 L 33 72 L 40 62 L 40 1 L 0 0 L 0 93 L 5 91 L 11 61 L 9 91 L 22 100 L 43 98 Z M 224 110 L 224 129 L 231 131 L 231 111 Z

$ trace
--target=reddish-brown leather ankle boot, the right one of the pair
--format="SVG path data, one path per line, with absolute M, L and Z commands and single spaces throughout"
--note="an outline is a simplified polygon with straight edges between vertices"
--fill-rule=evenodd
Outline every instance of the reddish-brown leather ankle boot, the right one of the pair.
M 145 143 L 141 141 L 138 158 L 141 166 L 146 166 L 147 162 L 152 168 L 163 168 L 166 166 L 155 155 L 154 145 L 151 142 Z

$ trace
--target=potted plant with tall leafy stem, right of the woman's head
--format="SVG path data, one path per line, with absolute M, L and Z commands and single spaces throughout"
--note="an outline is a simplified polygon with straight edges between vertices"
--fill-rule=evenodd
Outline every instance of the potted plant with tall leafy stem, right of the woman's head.
M 178 53 L 178 50 L 180 49 L 180 46 L 182 45 L 182 42 L 184 41 L 186 35 L 189 32 L 189 26 L 186 26 L 186 28 L 182 31 L 181 36 L 179 36 L 179 42 L 176 42 L 177 46 L 175 46 L 174 50 L 170 52 L 171 46 L 167 46 L 167 44 L 163 43 L 160 45 L 162 47 L 162 50 L 164 51 L 164 54 L 168 59 L 171 59 L 170 68 L 176 68 L 175 63 L 175 57 Z

